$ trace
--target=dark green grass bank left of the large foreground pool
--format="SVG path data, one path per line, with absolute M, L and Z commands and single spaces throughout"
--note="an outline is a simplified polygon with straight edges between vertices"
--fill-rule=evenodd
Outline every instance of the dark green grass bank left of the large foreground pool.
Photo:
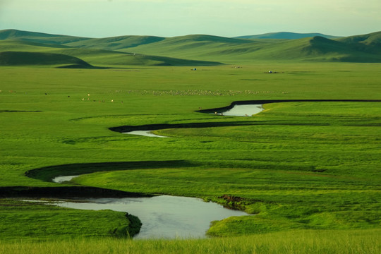
M 136 234 L 136 227 L 140 228 L 139 222 L 134 217 L 127 218 L 125 212 L 71 210 L 11 199 L 0 199 L 0 219 L 1 241 L 53 241 L 78 236 L 126 238 Z

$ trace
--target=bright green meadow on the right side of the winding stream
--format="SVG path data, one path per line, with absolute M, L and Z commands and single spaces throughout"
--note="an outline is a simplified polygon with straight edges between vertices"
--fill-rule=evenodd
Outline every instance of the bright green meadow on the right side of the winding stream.
M 156 133 L 171 138 L 147 140 L 156 145 L 150 149 L 152 157 L 165 150 L 166 157 L 176 155 L 197 168 L 186 163 L 182 169 L 147 166 L 99 172 L 73 182 L 217 202 L 225 202 L 217 197 L 233 195 L 244 198 L 236 205 L 259 213 L 246 219 L 246 229 L 243 219 L 237 225 L 225 220 L 222 224 L 228 226 L 222 229 L 212 226 L 214 235 L 379 225 L 378 103 L 294 102 L 266 104 L 265 109 L 244 126 L 168 129 Z M 135 153 L 147 152 L 138 144 Z

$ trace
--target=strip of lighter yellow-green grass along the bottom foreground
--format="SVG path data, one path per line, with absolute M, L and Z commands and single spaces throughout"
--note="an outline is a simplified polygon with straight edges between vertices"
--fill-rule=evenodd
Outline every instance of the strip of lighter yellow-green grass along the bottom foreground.
M 203 240 L 130 241 L 109 238 L 29 243 L 0 241 L 0 253 L 380 253 L 380 230 L 286 231 Z

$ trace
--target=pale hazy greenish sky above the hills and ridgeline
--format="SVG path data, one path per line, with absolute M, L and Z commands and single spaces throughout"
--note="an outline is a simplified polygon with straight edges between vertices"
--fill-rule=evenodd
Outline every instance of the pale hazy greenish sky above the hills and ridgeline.
M 381 30 L 381 0 L 0 0 L 0 30 L 84 37 Z

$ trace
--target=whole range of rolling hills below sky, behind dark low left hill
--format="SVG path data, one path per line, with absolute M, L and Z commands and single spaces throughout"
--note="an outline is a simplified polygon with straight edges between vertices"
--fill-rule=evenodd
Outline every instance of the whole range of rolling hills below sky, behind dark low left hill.
M 310 35 L 313 36 L 307 37 Z M 290 32 L 257 37 L 260 38 L 129 35 L 97 39 L 2 30 L 0 52 L 64 54 L 100 66 L 207 66 L 253 61 L 381 62 L 381 32 L 331 39 L 328 35 Z

